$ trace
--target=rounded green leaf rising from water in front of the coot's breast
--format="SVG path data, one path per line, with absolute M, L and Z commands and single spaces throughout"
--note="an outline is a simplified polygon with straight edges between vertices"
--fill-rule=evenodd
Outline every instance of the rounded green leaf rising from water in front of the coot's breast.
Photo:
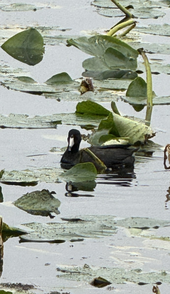
M 97 170 L 93 163 L 79 163 L 70 168 L 64 174 L 62 174 L 62 178 L 64 180 L 71 182 L 85 182 L 92 181 L 97 176 Z

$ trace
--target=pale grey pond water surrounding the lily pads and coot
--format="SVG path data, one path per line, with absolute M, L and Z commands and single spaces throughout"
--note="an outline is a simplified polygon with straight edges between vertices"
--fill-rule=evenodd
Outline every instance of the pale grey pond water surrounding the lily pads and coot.
M 70 38 L 92 36 L 96 32 L 105 34 L 106 30 L 121 20 L 121 17 L 111 18 L 98 14 L 95 6 L 87 0 L 71 2 L 50 0 L 48 3 L 46 1 L 30 3 L 23 0 L 22 3 L 32 4 L 41 9 L 37 11 L 1 9 L 3 5 L 13 3 L 12 0 L 0 0 L 0 45 L 23 28 L 46 27 L 44 31 L 40 31 L 47 40 L 45 54 L 39 64 L 29 66 L 13 59 L 0 48 L 0 63 L 6 64 L 11 69 L 20 69 L 21 73 L 28 73 L 26 75 L 39 83 L 60 72 L 67 72 L 72 79 L 80 78 L 84 71 L 82 62 L 89 58 L 88 54 L 77 48 L 65 46 L 65 41 L 51 45 L 51 36 L 62 35 L 65 40 L 65 36 Z M 164 17 L 140 19 L 139 24 L 141 26 L 170 24 L 170 12 L 167 8 L 162 9 L 164 10 L 166 10 Z M 50 28 L 53 28 L 52 33 Z M 169 44 L 168 36 L 143 33 L 141 36 L 142 42 Z M 168 54 L 148 54 L 148 57 L 163 59 L 164 64 L 170 62 Z M 145 74 L 141 76 L 145 78 Z M 169 81 L 169 72 L 153 75 L 153 89 L 158 96 L 169 95 Z M 0 91 L 0 113 L 4 116 L 10 113 L 27 114 L 30 117 L 73 113 L 78 102 L 71 99 L 69 101 L 63 99 L 59 102 L 45 96 L 8 90 L 2 85 Z M 111 110 L 111 101 L 112 99 L 109 101 L 107 97 L 107 102 L 102 100 L 98 103 Z M 146 108 L 136 113 L 132 106 L 120 99 L 116 105 L 122 115 L 145 118 Z M 170 143 L 169 123 L 170 106 L 154 106 L 151 127 L 156 131 L 156 136 L 152 141 L 161 146 Z M 58 124 L 57 128 L 0 128 L 0 170 L 60 168 L 62 153 L 50 152 L 50 150 L 52 147 L 67 146 L 67 135 L 71 128 L 77 128 L 86 135 L 89 133 L 80 126 L 66 124 Z M 81 144 L 81 147 L 90 146 L 84 141 Z M 161 282 L 162 284 L 158 286 L 160 293 L 169 293 L 170 204 L 167 201 L 169 200 L 167 190 L 170 186 L 170 172 L 164 169 L 163 150 L 164 148 L 158 148 L 151 157 L 136 156 L 133 178 L 98 175 L 93 191 L 79 190 L 68 195 L 66 182 L 39 181 L 37 186 L 1 183 L 4 201 L 0 203 L 0 215 L 3 222 L 9 226 L 31 231 L 31 226 L 27 228 L 23 224 L 59 222 L 61 225 L 64 223 L 67 230 L 68 222 L 61 218 L 80 218 L 86 223 L 79 226 L 77 222 L 69 222 L 70 235 L 68 232 L 64 234 L 63 227 L 64 243 L 19 243 L 19 237 L 9 238 L 4 242 L 0 288 L 15 293 L 16 286 L 11 284 L 21 283 L 18 289 L 22 293 L 55 291 L 55 293 L 78 294 L 81 291 L 83 294 L 98 294 L 111 290 L 113 293 L 143 294 L 152 293 L 153 285 L 156 286 L 154 283 Z M 14 206 L 13 202 L 22 195 L 42 189 L 55 191 L 55 198 L 61 202 L 58 208 L 60 214 L 52 213 L 55 218 L 32 215 Z M 131 218 L 138 218 L 136 225 L 131 225 Z M 153 220 L 151 225 L 147 225 L 148 219 Z M 106 231 L 104 226 L 107 227 Z M 142 229 L 144 227 L 148 229 Z M 74 237 L 75 233 L 79 235 L 77 238 L 83 240 L 70 242 L 71 236 Z M 27 238 L 27 235 L 24 238 Z M 117 273 L 113 273 L 113 269 L 117 269 Z M 90 282 L 99 276 L 112 284 L 104 288 L 90 285 Z M 140 283 L 145 284 L 140 285 Z M 33 289 L 27 290 L 23 285 L 33 285 Z

